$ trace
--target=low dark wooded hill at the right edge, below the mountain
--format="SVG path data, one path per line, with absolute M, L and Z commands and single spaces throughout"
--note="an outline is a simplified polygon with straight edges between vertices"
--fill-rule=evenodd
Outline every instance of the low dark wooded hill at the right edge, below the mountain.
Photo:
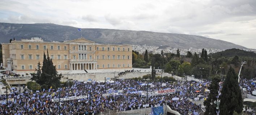
M 244 56 L 244 57 L 256 57 L 256 53 L 250 52 L 250 51 L 244 51 L 240 49 L 228 49 L 225 51 L 217 52 L 214 54 L 210 54 L 212 57 L 219 57 L 219 56 L 225 56 L 225 57 L 233 57 L 233 56 Z

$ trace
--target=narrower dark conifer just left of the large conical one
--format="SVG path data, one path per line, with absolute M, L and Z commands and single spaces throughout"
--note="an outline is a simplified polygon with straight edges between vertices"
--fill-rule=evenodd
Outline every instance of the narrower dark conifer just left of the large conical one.
M 210 90 L 210 93 L 208 95 L 208 98 L 204 101 L 205 106 L 205 112 L 204 115 L 217 115 L 217 104 L 214 103 L 214 101 L 217 101 L 217 96 L 219 95 L 219 77 L 213 77 L 212 82 L 208 89 Z

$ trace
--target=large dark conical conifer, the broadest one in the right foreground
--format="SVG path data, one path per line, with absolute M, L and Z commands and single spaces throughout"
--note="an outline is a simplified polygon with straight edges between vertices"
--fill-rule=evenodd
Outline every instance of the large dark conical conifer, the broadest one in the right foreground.
M 243 100 L 238 85 L 238 77 L 231 66 L 223 83 L 219 99 L 221 100 L 219 115 L 232 115 L 234 111 L 238 113 L 243 111 Z

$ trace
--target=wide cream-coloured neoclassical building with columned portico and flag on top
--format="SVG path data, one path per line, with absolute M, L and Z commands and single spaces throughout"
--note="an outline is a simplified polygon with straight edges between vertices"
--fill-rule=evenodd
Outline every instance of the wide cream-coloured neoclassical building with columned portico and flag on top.
M 35 72 L 47 49 L 57 70 L 132 68 L 132 46 L 98 44 L 83 37 L 64 42 L 35 37 L 2 43 L 3 67 L 16 73 Z

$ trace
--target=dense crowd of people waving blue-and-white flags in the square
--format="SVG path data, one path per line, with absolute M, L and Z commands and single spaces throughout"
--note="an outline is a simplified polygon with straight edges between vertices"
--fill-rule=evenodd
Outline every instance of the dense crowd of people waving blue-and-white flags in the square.
M 246 82 L 244 82 L 246 83 Z M 21 92 L 13 88 L 13 92 L 8 95 L 9 101 L 0 103 L 0 114 L 16 115 L 50 115 L 50 114 L 101 114 L 107 110 L 127 111 L 144 108 L 143 105 L 149 104 L 149 107 L 169 105 L 171 109 L 180 112 L 182 115 L 202 112 L 201 105 L 196 105 L 191 100 L 199 98 L 205 100 L 209 90 L 210 82 L 179 81 L 167 82 L 163 85 L 161 82 L 136 81 L 133 79 L 118 79 L 115 82 L 79 82 L 73 81 L 71 87 L 61 87 L 58 89 L 42 89 L 40 92 Z M 221 84 L 220 84 L 221 85 Z M 253 87 L 255 90 L 255 87 Z M 142 91 L 155 91 L 163 89 L 175 89 L 175 93 L 167 95 L 145 95 Z M 118 93 L 114 96 L 102 96 L 104 93 Z M 60 111 L 59 103 L 52 102 L 51 99 L 72 96 L 88 96 L 78 100 L 61 101 Z M 176 98 L 174 100 L 174 98 Z M 1 95 L 0 100 L 6 100 L 6 95 Z

